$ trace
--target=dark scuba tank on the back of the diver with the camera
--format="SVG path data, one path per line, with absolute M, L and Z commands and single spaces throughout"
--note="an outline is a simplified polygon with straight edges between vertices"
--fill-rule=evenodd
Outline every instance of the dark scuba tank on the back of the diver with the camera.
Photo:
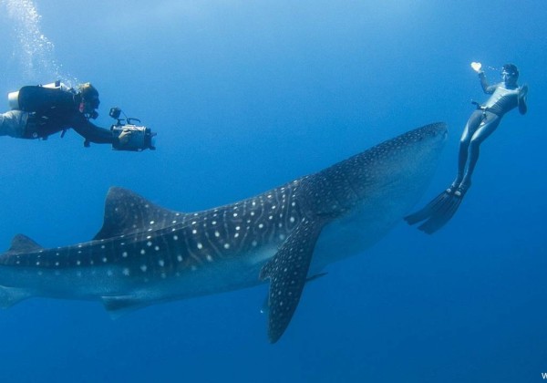
M 69 90 L 60 80 L 36 86 L 26 86 L 9 92 L 7 102 L 9 109 L 38 111 L 50 108 L 52 102 L 58 102 L 61 95 Z

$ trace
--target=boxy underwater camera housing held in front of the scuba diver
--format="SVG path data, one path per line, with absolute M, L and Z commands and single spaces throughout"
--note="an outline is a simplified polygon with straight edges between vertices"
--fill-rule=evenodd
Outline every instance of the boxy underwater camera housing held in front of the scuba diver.
M 112 130 L 112 133 L 116 135 L 116 137 L 121 134 L 124 130 L 129 130 L 131 134 L 129 135 L 129 141 L 120 144 L 117 140 L 112 144 L 113 150 L 130 150 L 130 151 L 141 151 L 141 150 L 156 150 L 156 147 L 154 146 L 154 137 L 156 136 L 156 133 L 152 133 L 152 130 L 139 125 L 140 119 L 133 119 L 125 116 L 125 119 L 120 119 L 119 116 L 121 114 L 121 109 L 119 108 L 110 108 L 110 112 L 108 115 L 112 119 L 116 119 L 116 124 L 112 125 L 110 130 Z

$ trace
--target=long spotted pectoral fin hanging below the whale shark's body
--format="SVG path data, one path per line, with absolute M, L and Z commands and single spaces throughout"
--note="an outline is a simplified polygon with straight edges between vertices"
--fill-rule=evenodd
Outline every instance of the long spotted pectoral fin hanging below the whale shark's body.
M 323 223 L 304 219 L 260 272 L 261 280 L 270 278 L 268 337 L 272 343 L 291 322 L 322 229 Z

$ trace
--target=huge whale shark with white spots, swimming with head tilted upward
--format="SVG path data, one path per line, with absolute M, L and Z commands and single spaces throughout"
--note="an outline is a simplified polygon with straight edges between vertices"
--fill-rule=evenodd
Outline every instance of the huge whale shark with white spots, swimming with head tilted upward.
M 88 242 L 43 248 L 15 235 L 0 255 L 0 305 L 29 297 L 98 300 L 113 315 L 269 283 L 268 337 L 294 316 L 304 285 L 361 254 L 418 202 L 447 137 L 410 130 L 248 199 L 175 212 L 111 187 Z

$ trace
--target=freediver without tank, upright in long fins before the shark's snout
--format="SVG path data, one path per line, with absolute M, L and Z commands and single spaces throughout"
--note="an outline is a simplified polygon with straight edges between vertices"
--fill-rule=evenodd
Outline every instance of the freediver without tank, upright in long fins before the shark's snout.
M 526 84 L 518 86 L 519 69 L 515 65 L 505 64 L 501 68 L 502 82 L 491 86 L 480 63 L 473 62 L 471 67 L 479 73 L 480 85 L 484 93 L 491 96 L 482 105 L 471 101 L 477 109 L 468 119 L 459 140 L 456 179 L 446 191 L 441 192 L 426 207 L 405 217 L 408 224 L 425 221 L 418 226 L 418 229 L 428 234 L 438 231 L 458 210 L 464 195 L 470 189 L 471 176 L 479 160 L 480 144 L 498 128 L 505 113 L 518 108 L 521 114 L 525 114 L 528 109 L 526 106 L 528 86 Z

